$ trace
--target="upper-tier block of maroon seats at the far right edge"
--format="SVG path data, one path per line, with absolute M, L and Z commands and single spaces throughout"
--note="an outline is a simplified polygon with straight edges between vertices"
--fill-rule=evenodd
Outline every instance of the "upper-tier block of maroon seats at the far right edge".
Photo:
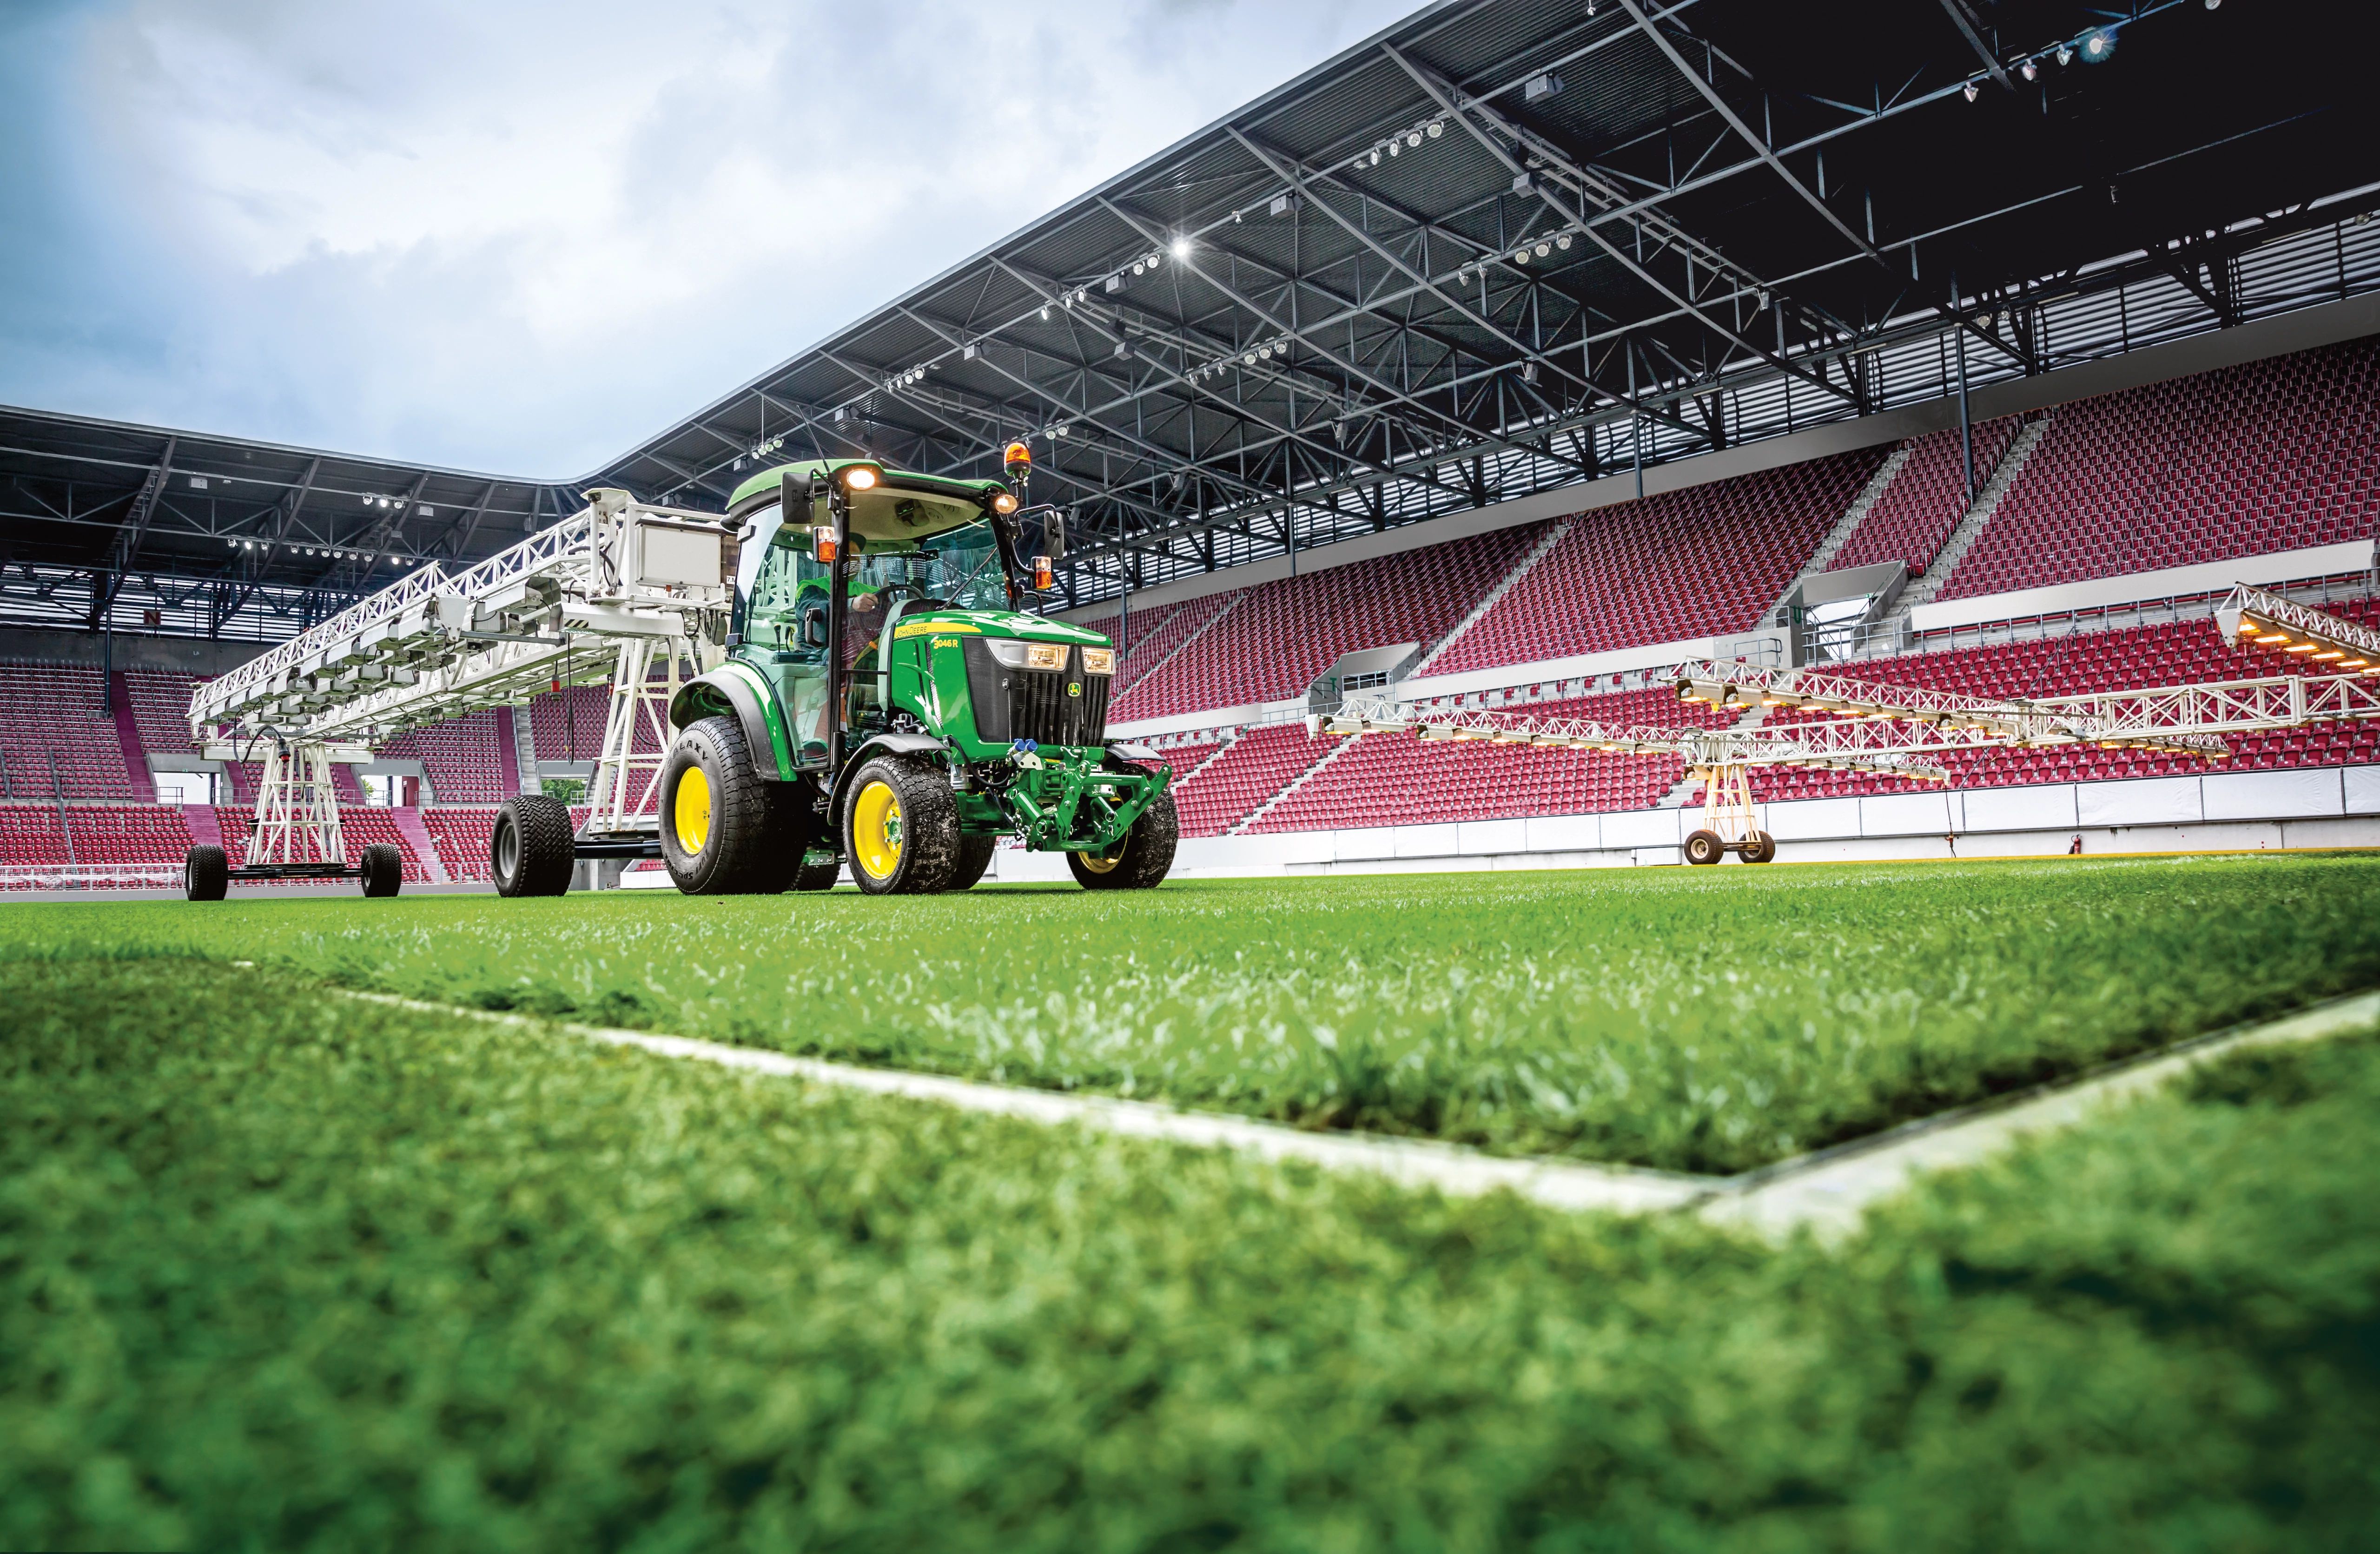
M 2370 340 L 2066 405 L 1937 597 L 2370 538 L 2375 433 Z

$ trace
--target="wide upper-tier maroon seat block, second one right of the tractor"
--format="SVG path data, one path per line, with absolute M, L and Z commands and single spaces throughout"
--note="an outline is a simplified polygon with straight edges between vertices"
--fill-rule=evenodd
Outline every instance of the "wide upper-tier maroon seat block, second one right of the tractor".
M 1749 631 L 1887 452 L 1847 452 L 1590 512 L 1430 671 Z

